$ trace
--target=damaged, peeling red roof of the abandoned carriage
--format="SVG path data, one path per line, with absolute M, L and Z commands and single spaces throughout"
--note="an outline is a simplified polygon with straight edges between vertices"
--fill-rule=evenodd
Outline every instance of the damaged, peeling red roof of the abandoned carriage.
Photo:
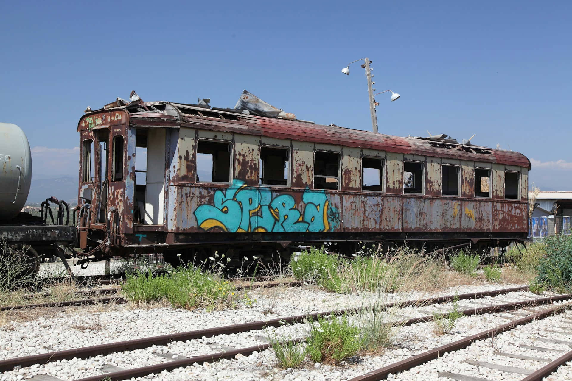
M 259 117 L 242 110 L 207 108 L 200 105 L 173 102 L 134 102 L 127 105 L 110 104 L 91 111 L 80 119 L 78 131 L 85 129 L 82 121 L 100 112 L 124 109 L 135 127 L 193 127 L 235 134 L 259 135 L 301 142 L 324 143 L 343 147 L 367 148 L 394 153 L 442 157 L 477 162 L 491 162 L 531 169 L 525 155 L 515 151 L 460 144 L 454 139 L 439 137 L 396 137 L 370 131 L 354 130 L 335 125 Z M 109 105 L 108 105 L 109 106 Z M 87 112 L 87 111 L 86 111 Z

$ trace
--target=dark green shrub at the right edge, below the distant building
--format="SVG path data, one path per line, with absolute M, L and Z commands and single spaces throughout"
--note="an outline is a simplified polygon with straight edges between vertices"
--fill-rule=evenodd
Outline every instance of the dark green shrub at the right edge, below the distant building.
M 557 291 L 572 287 L 572 235 L 555 235 L 544 240 L 546 256 L 538 265 L 537 282 L 546 284 Z

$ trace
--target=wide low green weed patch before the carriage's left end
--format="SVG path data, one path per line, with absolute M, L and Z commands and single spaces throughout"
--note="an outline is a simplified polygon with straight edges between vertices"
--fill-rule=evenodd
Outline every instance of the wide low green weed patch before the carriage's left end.
M 246 293 L 236 292 L 232 284 L 201 268 L 179 269 L 155 277 L 141 272 L 128 274 L 123 292 L 133 303 L 154 303 L 168 300 L 173 307 L 215 308 L 234 307 L 243 302 L 252 305 Z

